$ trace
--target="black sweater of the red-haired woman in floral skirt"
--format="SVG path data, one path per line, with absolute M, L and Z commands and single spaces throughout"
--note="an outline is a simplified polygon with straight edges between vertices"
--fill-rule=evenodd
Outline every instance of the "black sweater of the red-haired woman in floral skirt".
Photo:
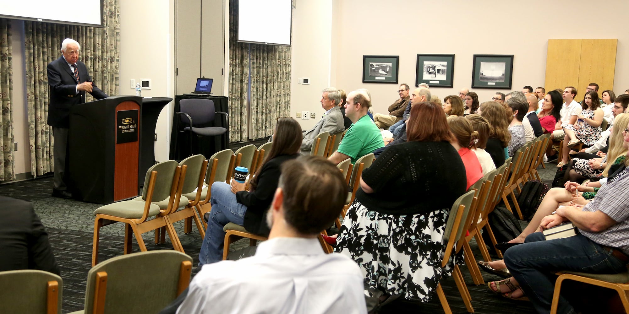
M 410 141 L 387 145 L 362 180 L 374 190 L 359 188 L 362 205 L 382 214 L 415 215 L 450 208 L 465 193 L 463 161 L 447 142 Z

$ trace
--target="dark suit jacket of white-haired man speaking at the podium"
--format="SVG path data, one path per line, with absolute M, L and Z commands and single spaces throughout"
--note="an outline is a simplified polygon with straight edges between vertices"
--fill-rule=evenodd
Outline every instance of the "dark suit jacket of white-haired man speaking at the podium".
M 77 61 L 79 68 L 79 82 L 74 78 L 74 72 L 65 62 L 64 57 L 48 63 L 48 125 L 53 127 L 70 127 L 70 107 L 85 102 L 85 92 L 79 90 L 76 94 L 76 86 L 82 82 L 92 82 L 85 63 Z M 101 89 L 92 84 L 90 93 L 96 99 L 108 97 Z

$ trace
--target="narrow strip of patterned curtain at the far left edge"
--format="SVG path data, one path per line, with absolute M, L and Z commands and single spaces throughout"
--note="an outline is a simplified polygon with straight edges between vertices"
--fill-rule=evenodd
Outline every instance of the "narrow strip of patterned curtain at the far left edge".
M 0 19 L 0 181 L 14 180 L 13 163 L 13 69 L 11 49 L 11 21 Z

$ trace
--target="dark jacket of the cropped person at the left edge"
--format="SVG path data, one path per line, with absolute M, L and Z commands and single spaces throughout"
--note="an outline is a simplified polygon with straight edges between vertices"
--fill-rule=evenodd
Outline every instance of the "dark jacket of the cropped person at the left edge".
M 39 269 L 61 275 L 42 221 L 29 202 L 0 196 L 0 271 Z

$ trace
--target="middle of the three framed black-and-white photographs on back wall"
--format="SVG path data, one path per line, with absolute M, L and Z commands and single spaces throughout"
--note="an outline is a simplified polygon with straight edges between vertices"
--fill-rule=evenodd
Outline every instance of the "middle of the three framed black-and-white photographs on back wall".
M 452 87 L 454 55 L 417 55 L 415 86 Z

